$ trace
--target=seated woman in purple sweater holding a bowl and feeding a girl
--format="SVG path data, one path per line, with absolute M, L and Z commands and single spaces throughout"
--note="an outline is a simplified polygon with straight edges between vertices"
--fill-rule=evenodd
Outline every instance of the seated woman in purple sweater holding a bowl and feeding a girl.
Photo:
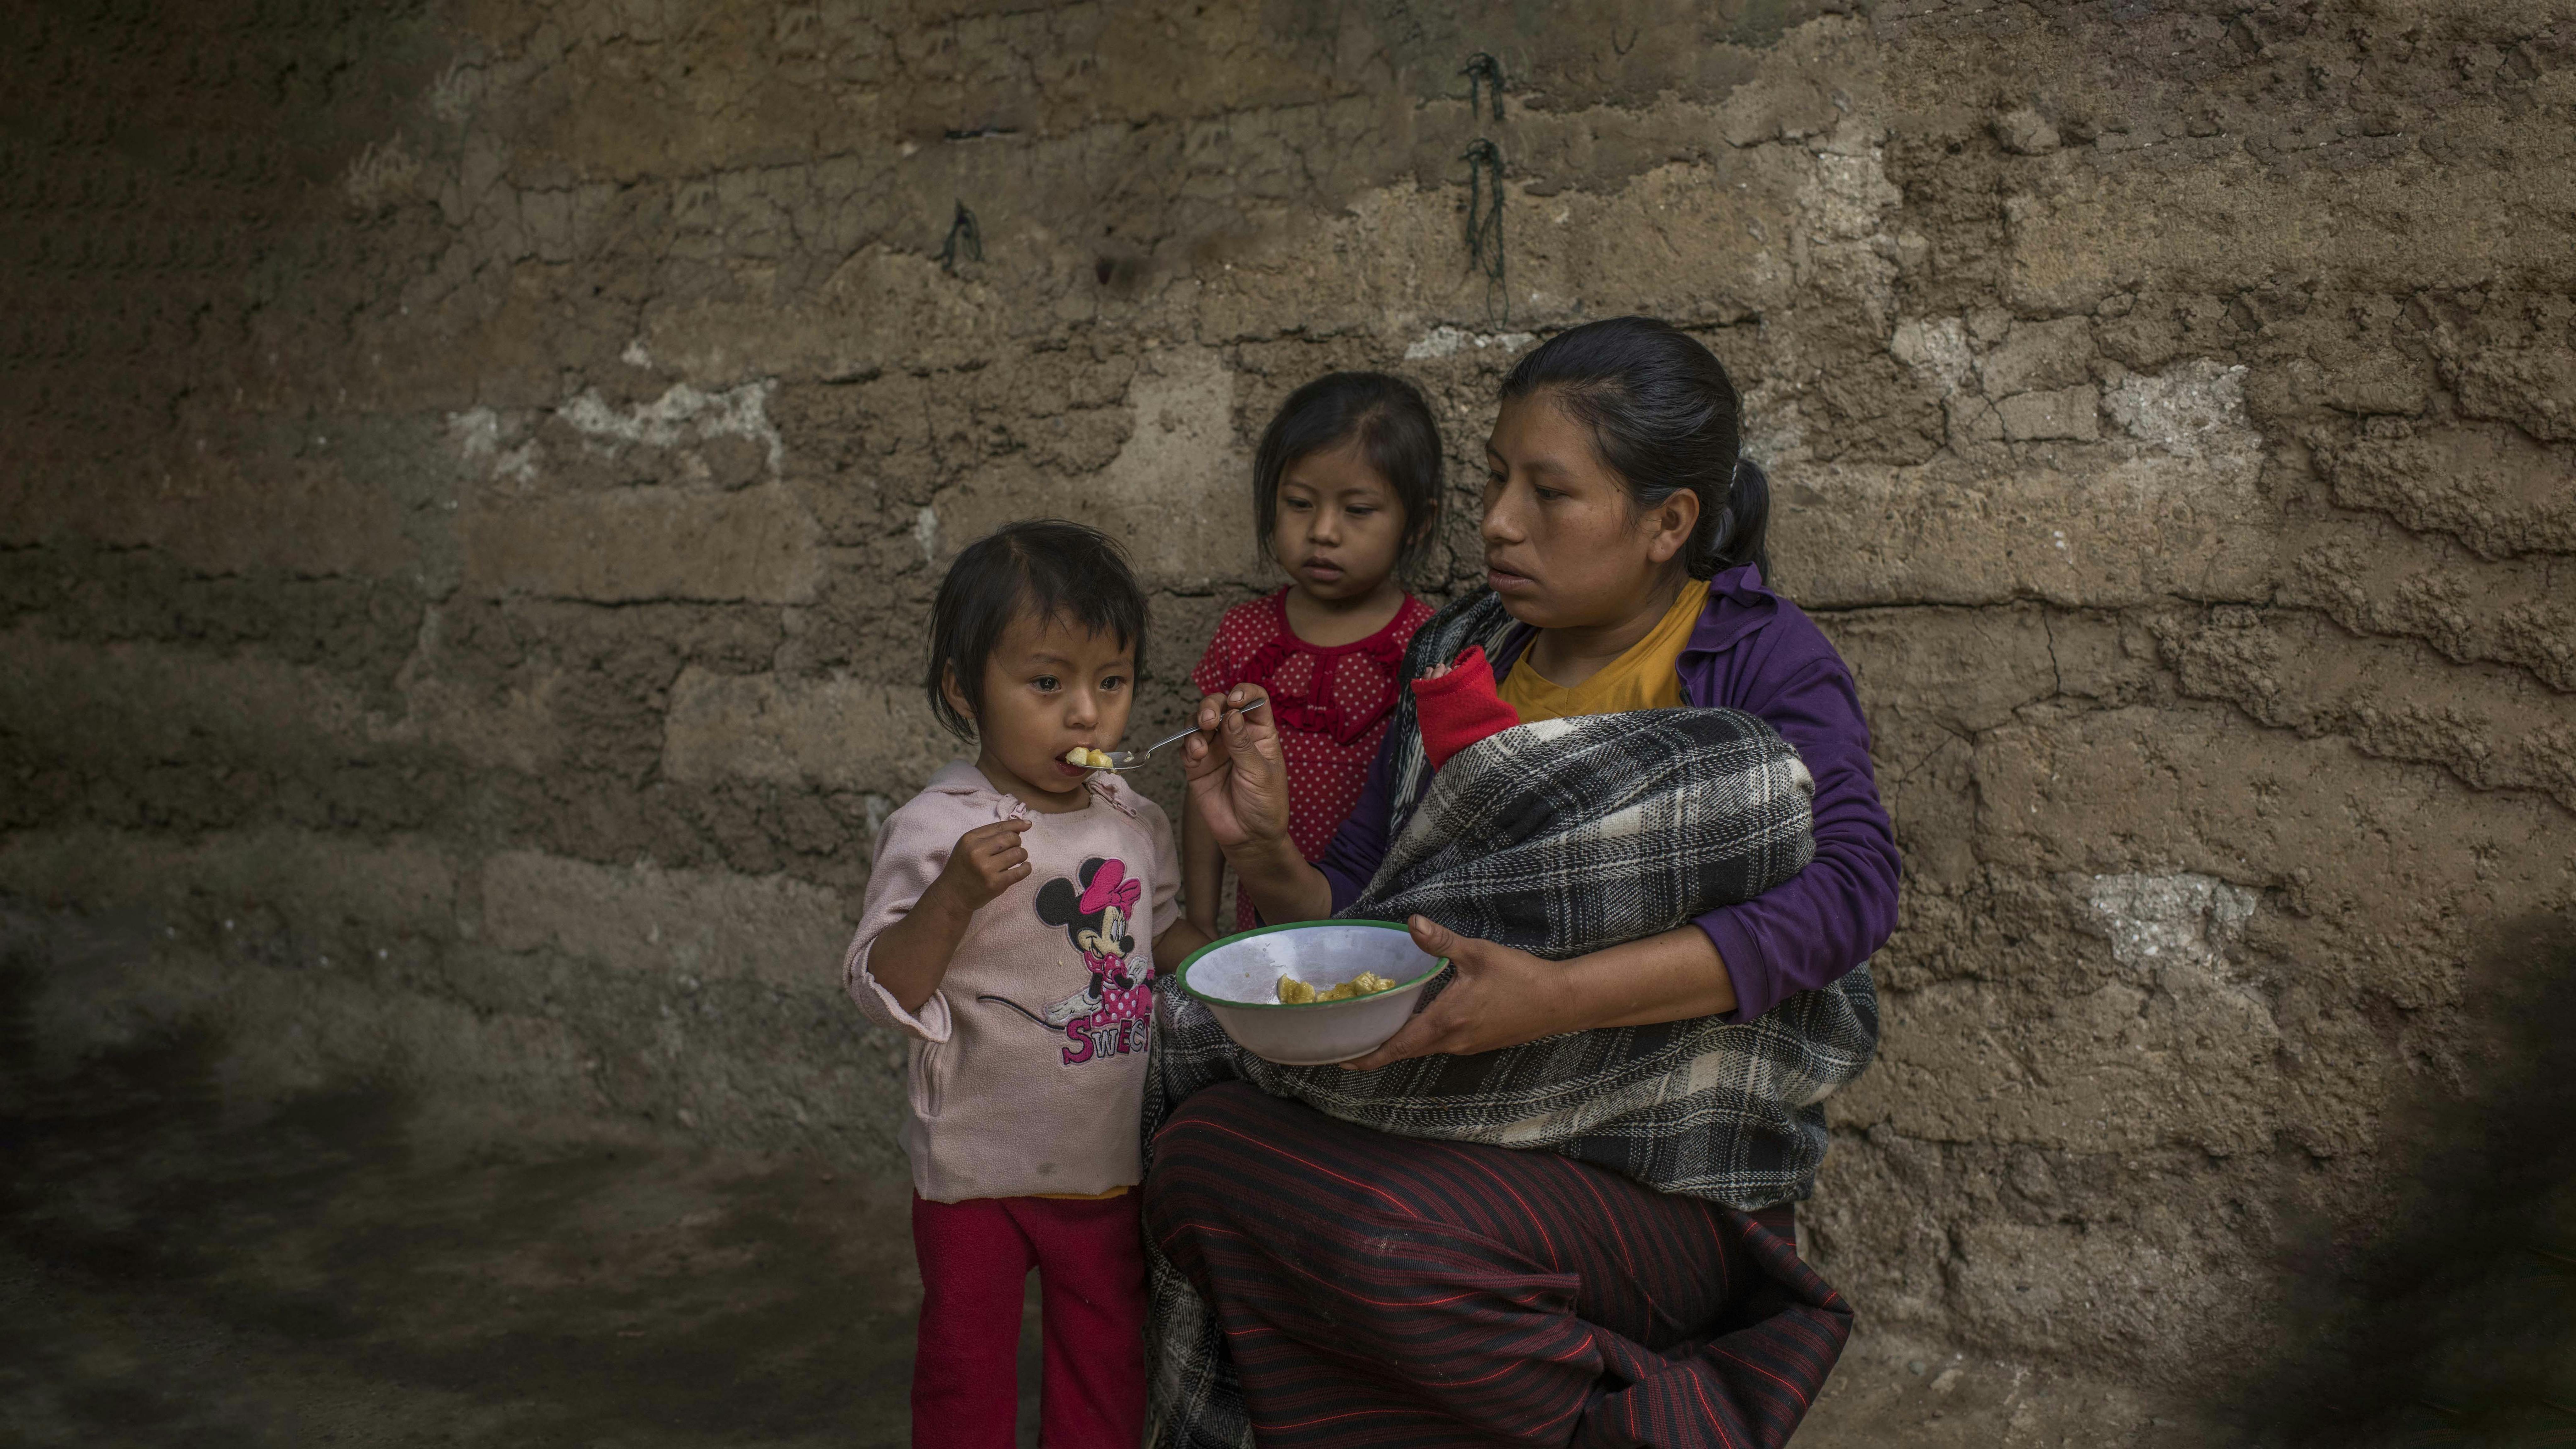
M 1540 724 L 1497 740 L 1566 750 L 1520 776 L 1561 758 L 1579 792 L 1615 794 L 1605 758 L 1677 771 L 1633 812 L 1667 820 L 1649 825 L 1662 856 L 1574 869 L 1582 890 L 1533 895 L 1517 926 L 1473 892 L 1414 895 L 1455 905 L 1435 910 L 1448 923 L 1412 915 L 1455 977 L 1345 1065 L 1350 1091 L 1329 1067 L 1260 1062 L 1208 1083 L 1188 1049 L 1170 1055 L 1177 1085 L 1149 1106 L 1164 1114 L 1149 1245 L 1203 1315 L 1157 1325 L 1164 1441 L 1777 1444 L 1821 1387 L 1850 1312 L 1798 1263 L 1790 1204 L 1824 1152 L 1816 1104 L 1875 1044 L 1862 962 L 1896 923 L 1896 843 L 1850 670 L 1762 585 L 1767 487 L 1736 449 L 1734 384 L 1664 322 L 1577 327 L 1504 382 L 1481 523 L 1492 593 L 1425 624 L 1406 676 L 1481 642 L 1504 701 Z M 1437 835 L 1497 825 L 1455 822 L 1579 810 L 1543 789 L 1497 810 L 1492 771 L 1450 781 L 1466 755 L 1430 781 L 1399 717 L 1360 807 L 1306 864 L 1270 724 L 1224 714 L 1252 696 L 1206 699 L 1185 753 L 1193 810 L 1270 920 L 1383 910 L 1435 859 L 1458 879 L 1486 841 Z M 1692 815 L 1785 779 L 1759 758 L 1723 773 L 1765 740 L 1814 781 L 1814 856 L 1801 797 L 1790 869 Z M 1584 866 L 1631 828 L 1538 859 Z M 1512 892 L 1517 869 L 1479 879 Z M 1566 933 L 1551 920 L 1566 913 L 1600 920 Z M 1551 1080 L 1574 1091 L 1548 1096 Z M 1412 1111 L 1430 1091 L 1450 1114 Z M 1479 1093 L 1512 1106 L 1448 1129 Z

